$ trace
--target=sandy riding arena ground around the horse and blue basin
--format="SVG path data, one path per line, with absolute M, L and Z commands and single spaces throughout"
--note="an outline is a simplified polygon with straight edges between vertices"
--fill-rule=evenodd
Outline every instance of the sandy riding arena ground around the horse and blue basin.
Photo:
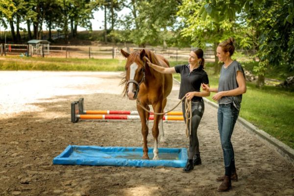
M 135 110 L 135 102 L 120 95 L 120 78 L 120 73 L 102 72 L 0 72 L 0 195 L 294 195 L 294 167 L 238 124 L 232 141 L 239 181 L 228 193 L 216 192 L 215 178 L 224 170 L 217 111 L 208 104 L 198 131 L 202 165 L 190 173 L 169 167 L 52 165 L 68 145 L 142 146 L 139 121 L 70 122 L 70 103 L 82 97 L 86 109 Z M 178 89 L 174 83 L 167 109 L 177 103 Z M 164 129 L 168 144 L 159 147 L 188 147 L 183 122 L 164 123 Z M 149 147 L 152 140 L 149 134 Z

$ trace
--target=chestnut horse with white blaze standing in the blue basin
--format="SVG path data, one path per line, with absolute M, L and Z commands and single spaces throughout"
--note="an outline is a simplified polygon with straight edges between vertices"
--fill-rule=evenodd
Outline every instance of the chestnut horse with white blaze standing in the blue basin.
M 167 97 L 172 91 L 172 74 L 163 74 L 155 71 L 148 66 L 145 58 L 147 57 L 151 63 L 162 67 L 170 67 L 169 62 L 164 57 L 155 55 L 148 49 L 136 50 L 131 54 L 123 49 L 121 49 L 121 52 L 127 58 L 125 78 L 122 81 L 122 84 L 125 84 L 124 95 L 127 95 L 130 100 L 138 99 L 145 108 L 149 108 L 148 105 L 152 105 L 154 112 L 162 113 L 167 103 Z M 141 119 L 144 142 L 142 158 L 149 159 L 147 147 L 149 114 L 138 104 L 137 110 Z M 152 127 L 154 160 L 158 159 L 157 139 L 159 123 L 162 130 L 161 138 L 164 139 L 162 118 L 163 115 L 154 115 Z

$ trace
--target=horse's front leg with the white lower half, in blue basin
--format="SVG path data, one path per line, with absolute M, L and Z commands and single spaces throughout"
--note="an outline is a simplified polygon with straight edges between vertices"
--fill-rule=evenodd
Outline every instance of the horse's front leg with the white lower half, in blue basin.
M 162 111 L 162 103 L 157 103 L 152 105 L 154 112 L 160 113 Z M 158 129 L 158 123 L 160 120 L 162 120 L 163 115 L 154 115 L 154 122 L 152 127 L 152 135 L 154 138 L 154 148 L 153 148 L 153 160 L 159 159 L 158 157 L 158 147 L 157 147 L 157 141 L 158 141 L 158 135 L 159 135 L 159 129 Z

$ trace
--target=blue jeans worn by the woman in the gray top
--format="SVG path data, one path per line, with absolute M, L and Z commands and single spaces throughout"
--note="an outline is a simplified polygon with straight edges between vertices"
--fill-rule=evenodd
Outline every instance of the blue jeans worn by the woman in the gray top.
M 231 136 L 238 116 L 239 110 L 234 107 L 233 103 L 219 105 L 218 124 L 226 175 L 228 175 L 228 172 L 231 172 L 231 170 L 235 170 L 235 168 L 232 168 L 235 167 L 235 158 Z

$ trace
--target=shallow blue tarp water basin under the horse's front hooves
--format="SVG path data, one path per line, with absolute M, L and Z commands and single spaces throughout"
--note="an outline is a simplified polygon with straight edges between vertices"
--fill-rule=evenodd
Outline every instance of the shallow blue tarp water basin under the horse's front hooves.
M 132 167 L 185 167 L 186 148 L 158 148 L 159 160 L 153 158 L 153 148 L 148 149 L 150 160 L 141 159 L 142 147 L 96 147 L 69 145 L 53 159 L 53 164 Z

